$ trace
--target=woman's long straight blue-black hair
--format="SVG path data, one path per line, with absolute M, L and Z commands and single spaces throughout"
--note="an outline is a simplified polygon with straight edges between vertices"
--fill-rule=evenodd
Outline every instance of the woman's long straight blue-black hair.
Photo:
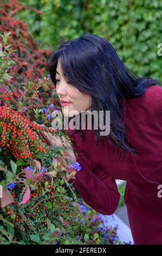
M 59 59 L 67 83 L 91 96 L 91 111 L 110 111 L 110 132 L 103 136 L 104 139 L 121 150 L 135 153 L 136 149 L 126 142 L 126 100 L 141 96 L 146 88 L 160 85 L 160 81 L 135 75 L 122 62 L 110 42 L 98 35 L 84 34 L 63 42 L 48 56 L 47 69 L 54 83 Z M 83 138 L 82 130 L 74 132 Z M 99 138 L 103 138 L 100 129 L 94 130 L 94 135 L 98 144 Z

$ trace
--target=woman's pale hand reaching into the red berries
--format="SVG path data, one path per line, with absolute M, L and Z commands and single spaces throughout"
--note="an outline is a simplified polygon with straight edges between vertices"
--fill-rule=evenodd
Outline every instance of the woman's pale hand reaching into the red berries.
M 46 127 L 44 124 L 41 126 Z M 51 127 L 51 129 L 53 129 L 53 128 Z M 44 132 L 44 131 L 40 131 L 40 132 L 41 132 L 42 137 L 45 139 L 45 141 L 48 145 L 51 145 L 53 147 L 62 147 L 63 148 L 63 144 L 58 135 L 53 136 L 49 132 Z M 66 156 L 67 160 L 70 162 L 75 162 L 76 157 L 75 157 L 72 145 L 69 144 L 68 140 L 65 137 L 62 137 L 62 139 L 63 139 L 64 145 L 66 146 L 67 151 L 68 151 L 68 155 Z

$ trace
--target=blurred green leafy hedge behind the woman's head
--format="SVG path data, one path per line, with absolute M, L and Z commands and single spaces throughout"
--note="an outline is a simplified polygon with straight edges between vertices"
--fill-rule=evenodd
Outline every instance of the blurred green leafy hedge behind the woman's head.
M 16 17 L 44 49 L 55 50 L 63 41 L 92 33 L 109 40 L 120 58 L 138 76 L 162 81 L 161 0 L 26 0 L 42 11 L 24 8 Z M 162 52 L 162 51 L 161 51 Z

